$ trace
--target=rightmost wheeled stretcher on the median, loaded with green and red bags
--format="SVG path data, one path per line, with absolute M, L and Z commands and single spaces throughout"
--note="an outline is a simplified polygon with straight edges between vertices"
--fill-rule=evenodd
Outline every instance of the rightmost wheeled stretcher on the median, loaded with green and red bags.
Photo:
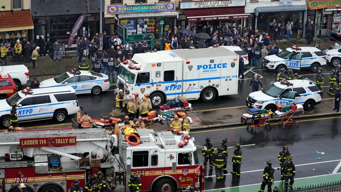
M 283 129 L 285 128 L 285 125 L 295 125 L 296 127 L 298 127 L 298 122 L 294 121 L 292 119 L 292 116 L 299 111 L 302 111 L 302 113 L 304 113 L 304 109 L 303 106 L 300 104 L 296 104 L 294 102 L 293 105 L 287 105 L 290 106 L 289 109 L 287 110 L 282 110 L 283 107 L 286 107 L 285 105 L 282 105 L 281 108 L 277 108 L 280 110 L 275 111 L 274 115 L 275 117 L 283 117 L 281 121 L 278 122 L 278 126 L 280 126 L 280 124 L 283 124 Z

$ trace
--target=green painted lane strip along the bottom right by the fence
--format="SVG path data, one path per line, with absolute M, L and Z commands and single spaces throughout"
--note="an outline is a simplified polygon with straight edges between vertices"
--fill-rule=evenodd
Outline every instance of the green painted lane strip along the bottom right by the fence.
M 340 178 L 341 178 L 340 174 L 341 173 L 297 178 L 295 179 L 293 187 L 297 188 L 297 187 L 309 186 L 312 184 L 340 181 Z M 281 190 L 281 184 L 282 184 L 282 181 L 275 181 L 274 184 L 272 185 L 272 188 L 277 186 L 280 189 L 280 191 L 282 190 L 284 191 L 284 182 L 283 182 L 282 190 Z M 250 184 L 246 186 L 230 187 L 230 188 L 222 188 L 222 189 L 211 189 L 211 190 L 205 190 L 205 191 L 221 192 L 221 190 L 225 190 L 225 192 L 257 192 L 260 190 L 260 188 L 261 188 L 261 183 L 258 183 L 258 184 Z

